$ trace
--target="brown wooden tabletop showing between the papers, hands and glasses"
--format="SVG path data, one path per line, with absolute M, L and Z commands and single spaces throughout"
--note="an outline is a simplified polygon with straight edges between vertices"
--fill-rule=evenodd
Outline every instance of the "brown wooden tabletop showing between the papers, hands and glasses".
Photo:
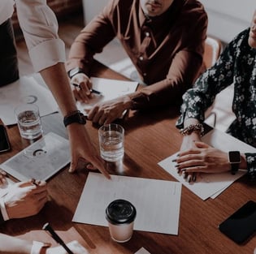
M 125 80 L 124 76 L 102 65 L 95 64 L 94 69 L 94 75 Z M 158 166 L 158 162 L 180 149 L 181 136 L 175 127 L 177 117 L 177 109 L 166 108 L 129 112 L 125 119 L 119 120 L 125 129 L 125 175 L 176 181 Z M 42 120 L 46 132 L 57 131 L 61 136 L 67 135 L 60 115 L 44 117 Z M 88 122 L 86 128 L 98 147 L 98 127 Z M 21 140 L 16 126 L 8 127 L 7 132 L 12 150 L 2 153 L 0 162 L 28 145 Z M 110 170 L 112 174 L 117 174 L 115 169 Z M 240 246 L 218 229 L 219 223 L 247 200 L 255 200 L 256 186 L 249 183 L 246 177 L 233 183 L 215 200 L 203 201 L 182 187 L 179 235 L 135 231 L 128 243 L 115 243 L 107 227 L 72 222 L 87 175 L 85 170 L 76 174 L 69 174 L 67 168 L 61 170 L 48 181 L 50 201 L 41 212 L 33 217 L 6 222 L 1 231 L 10 235 L 23 235 L 29 230 L 40 230 L 46 222 L 50 222 L 55 230 L 74 227 L 85 239 L 85 247 L 89 248 L 89 252 L 98 254 L 132 254 L 141 247 L 151 254 L 252 254 L 256 247 L 255 238 Z

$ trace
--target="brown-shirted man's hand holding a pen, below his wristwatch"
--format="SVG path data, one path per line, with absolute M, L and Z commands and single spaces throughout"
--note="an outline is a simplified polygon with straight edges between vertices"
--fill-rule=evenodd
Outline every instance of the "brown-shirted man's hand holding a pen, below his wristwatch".
M 78 87 L 72 85 L 72 92 L 77 101 L 88 103 L 90 99 L 90 89 L 92 82 L 84 73 L 77 73 L 72 77 L 71 84 L 77 84 Z

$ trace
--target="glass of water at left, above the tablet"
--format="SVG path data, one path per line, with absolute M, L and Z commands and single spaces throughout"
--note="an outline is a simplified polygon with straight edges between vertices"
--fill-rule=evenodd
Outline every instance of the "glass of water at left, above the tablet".
M 18 105 L 15 108 L 20 136 L 27 140 L 35 140 L 42 136 L 41 118 L 35 104 Z

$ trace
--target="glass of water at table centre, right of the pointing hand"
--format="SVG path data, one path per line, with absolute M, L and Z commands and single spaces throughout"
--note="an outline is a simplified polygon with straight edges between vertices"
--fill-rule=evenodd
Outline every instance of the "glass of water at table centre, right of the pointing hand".
M 124 128 L 119 124 L 105 124 L 98 129 L 101 157 L 105 161 L 119 161 L 124 157 Z

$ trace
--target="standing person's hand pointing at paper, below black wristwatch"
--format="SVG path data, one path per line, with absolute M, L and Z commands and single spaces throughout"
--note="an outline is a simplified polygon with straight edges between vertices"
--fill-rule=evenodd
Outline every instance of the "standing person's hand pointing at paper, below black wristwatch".
M 87 169 L 98 169 L 107 179 L 110 179 L 110 175 L 104 168 L 104 161 L 92 144 L 85 126 L 79 123 L 72 123 L 67 126 L 67 130 L 72 153 L 72 162 L 69 172 L 74 172 L 78 168 L 79 161 L 84 161 Z

